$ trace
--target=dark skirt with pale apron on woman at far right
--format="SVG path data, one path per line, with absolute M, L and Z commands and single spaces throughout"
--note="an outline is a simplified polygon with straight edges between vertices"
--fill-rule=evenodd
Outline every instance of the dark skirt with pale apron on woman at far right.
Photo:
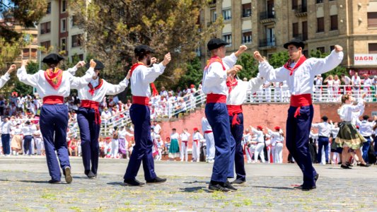
M 340 130 L 337 134 L 337 147 L 349 147 L 352 149 L 358 149 L 363 146 L 363 143 L 366 141 L 363 136 L 357 131 L 356 126 L 351 122 L 340 122 Z

